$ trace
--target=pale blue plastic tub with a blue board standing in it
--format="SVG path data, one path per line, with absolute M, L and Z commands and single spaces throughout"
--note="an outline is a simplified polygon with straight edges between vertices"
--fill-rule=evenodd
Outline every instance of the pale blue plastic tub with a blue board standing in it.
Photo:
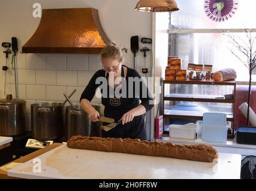
M 220 142 L 227 141 L 228 128 L 231 122 L 227 122 L 225 126 L 203 125 L 203 121 L 197 121 L 197 138 L 203 141 Z

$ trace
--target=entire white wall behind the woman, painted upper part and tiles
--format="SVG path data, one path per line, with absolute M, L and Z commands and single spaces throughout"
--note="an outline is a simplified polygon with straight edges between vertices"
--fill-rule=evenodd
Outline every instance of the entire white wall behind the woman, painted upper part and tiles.
M 32 36 L 40 22 L 32 17 L 32 5 L 39 2 L 42 8 L 80 8 L 92 7 L 99 10 L 101 25 L 109 39 L 118 42 L 121 48 L 128 48 L 124 55 L 126 64 L 133 66 L 130 48 L 131 36 L 152 38 L 152 14 L 134 11 L 138 0 L 8 0 L 0 1 L 0 42 L 18 39 L 19 50 Z M 140 48 L 144 45 L 140 44 Z M 147 45 L 148 46 L 148 45 Z M 4 48 L 0 48 L 1 52 Z M 150 54 L 147 57 L 150 68 Z M 0 54 L 4 65 L 5 54 Z M 8 60 L 10 63 L 10 60 Z M 137 56 L 137 70 L 144 65 L 142 53 Z M 1 66 L 2 67 L 2 66 Z M 101 69 L 99 55 L 76 54 L 22 54 L 17 55 L 19 98 L 27 101 L 27 128 L 30 128 L 30 104 L 42 101 L 63 101 L 63 93 L 70 94 L 74 88 L 77 93 L 71 98 L 77 103 L 80 94 L 95 71 Z M 0 97 L 4 97 L 5 72 L 0 71 Z M 6 93 L 15 95 L 14 71 L 7 72 Z M 100 104 L 101 100 L 92 101 Z M 149 123 L 149 121 L 147 121 Z

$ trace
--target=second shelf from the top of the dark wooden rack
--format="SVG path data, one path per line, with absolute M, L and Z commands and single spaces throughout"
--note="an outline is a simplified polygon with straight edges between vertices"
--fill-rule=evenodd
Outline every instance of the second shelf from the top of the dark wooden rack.
M 213 103 L 234 103 L 234 99 L 225 99 L 224 96 L 195 95 L 195 94 L 168 94 L 165 101 L 197 101 Z

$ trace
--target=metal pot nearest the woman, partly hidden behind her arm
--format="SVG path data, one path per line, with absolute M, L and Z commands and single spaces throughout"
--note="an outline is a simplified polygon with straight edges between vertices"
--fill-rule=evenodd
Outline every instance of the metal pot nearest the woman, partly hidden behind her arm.
M 93 105 L 100 113 L 100 106 Z M 101 137 L 101 122 L 92 122 L 88 114 L 83 111 L 81 106 L 66 107 L 66 139 L 73 135 L 86 135 L 90 137 Z

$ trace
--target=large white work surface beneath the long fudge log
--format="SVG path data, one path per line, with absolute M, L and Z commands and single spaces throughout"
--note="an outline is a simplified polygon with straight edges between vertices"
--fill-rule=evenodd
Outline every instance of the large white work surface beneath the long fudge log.
M 40 160 L 38 160 L 40 159 Z M 41 172 L 33 172 L 40 161 Z M 33 163 L 34 162 L 34 163 Z M 218 163 L 56 147 L 8 171 L 19 178 L 240 178 L 241 155 L 219 153 Z

